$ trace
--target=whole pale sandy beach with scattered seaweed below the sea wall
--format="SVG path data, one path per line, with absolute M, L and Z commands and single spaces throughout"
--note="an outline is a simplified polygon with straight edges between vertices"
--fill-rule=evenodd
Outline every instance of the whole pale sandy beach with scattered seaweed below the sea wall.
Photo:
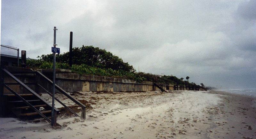
M 52 128 L 44 121 L 0 118 L 0 138 L 256 138 L 256 100 L 244 95 L 212 90 L 70 94 L 87 103 L 86 120 L 60 112 L 60 126 Z

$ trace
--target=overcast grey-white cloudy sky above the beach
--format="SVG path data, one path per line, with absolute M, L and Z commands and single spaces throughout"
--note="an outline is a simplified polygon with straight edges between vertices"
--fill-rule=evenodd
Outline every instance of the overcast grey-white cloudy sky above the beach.
M 1 44 L 51 53 L 93 45 L 138 71 L 190 77 L 227 89 L 256 88 L 255 0 L 2 0 Z

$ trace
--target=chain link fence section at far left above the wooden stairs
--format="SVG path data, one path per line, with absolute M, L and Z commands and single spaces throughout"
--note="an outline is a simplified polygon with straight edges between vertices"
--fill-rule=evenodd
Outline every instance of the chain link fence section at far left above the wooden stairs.
M 12 59 L 16 58 L 18 66 L 19 66 L 19 52 L 20 52 L 20 49 L 16 47 L 1 44 L 1 48 L 0 48 L 1 57 L 12 58 Z

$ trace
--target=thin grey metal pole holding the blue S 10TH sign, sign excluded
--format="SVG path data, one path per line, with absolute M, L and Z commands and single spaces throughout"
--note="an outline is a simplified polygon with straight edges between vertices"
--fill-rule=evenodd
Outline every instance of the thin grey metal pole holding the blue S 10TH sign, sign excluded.
M 58 30 L 56 27 L 54 27 L 54 36 L 53 36 L 53 47 L 56 47 L 56 30 Z M 51 119 L 51 125 L 56 126 L 56 121 L 54 118 L 54 100 L 55 100 L 55 62 L 56 62 L 56 53 L 52 53 L 53 55 L 53 75 L 52 75 L 52 119 Z

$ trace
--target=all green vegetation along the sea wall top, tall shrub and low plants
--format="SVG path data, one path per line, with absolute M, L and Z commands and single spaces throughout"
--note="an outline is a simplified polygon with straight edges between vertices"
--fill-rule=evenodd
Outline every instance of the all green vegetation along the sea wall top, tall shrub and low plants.
M 69 52 L 56 55 L 56 68 L 70 69 L 73 73 L 124 78 L 138 82 L 152 81 L 154 78 L 161 83 L 194 85 L 194 83 L 183 81 L 184 78 L 179 79 L 176 76 L 159 76 L 151 73 L 136 72 L 132 65 L 99 47 L 84 45 L 80 48 L 75 47 L 72 50 L 72 54 L 73 65 L 71 67 L 68 65 Z M 38 56 L 37 58 L 36 60 L 28 60 L 27 66 L 30 68 L 52 69 L 52 54 Z M 189 77 L 187 76 L 186 79 L 188 80 Z

